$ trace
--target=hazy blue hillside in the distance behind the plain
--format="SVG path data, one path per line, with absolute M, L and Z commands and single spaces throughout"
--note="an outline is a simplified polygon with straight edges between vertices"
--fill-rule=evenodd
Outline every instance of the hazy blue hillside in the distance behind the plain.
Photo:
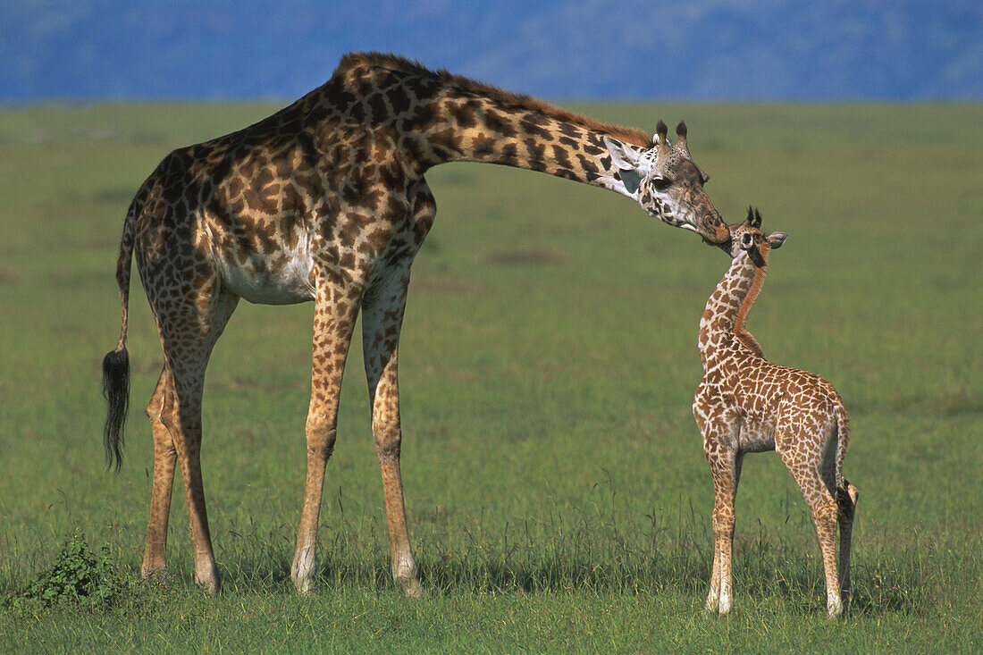
M 289 99 L 367 49 L 554 99 L 983 98 L 980 0 L 0 0 L 0 100 Z

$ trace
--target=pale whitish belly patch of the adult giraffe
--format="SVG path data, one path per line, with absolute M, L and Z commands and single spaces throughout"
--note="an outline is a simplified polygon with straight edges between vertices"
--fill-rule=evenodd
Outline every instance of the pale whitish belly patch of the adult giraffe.
M 285 261 L 284 261 L 285 257 Z M 218 262 L 222 285 L 260 305 L 291 305 L 314 300 L 311 261 L 306 253 L 280 252 L 236 262 Z

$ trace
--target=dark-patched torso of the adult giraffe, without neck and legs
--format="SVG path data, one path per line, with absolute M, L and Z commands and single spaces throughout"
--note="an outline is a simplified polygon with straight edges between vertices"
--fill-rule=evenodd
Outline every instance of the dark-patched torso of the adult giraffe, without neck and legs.
M 412 255 L 429 225 L 407 216 L 426 183 L 391 139 L 331 113 L 332 89 L 164 157 L 134 203 L 142 276 L 183 261 L 251 302 L 286 304 L 314 298 L 316 259 L 365 281 L 383 257 Z

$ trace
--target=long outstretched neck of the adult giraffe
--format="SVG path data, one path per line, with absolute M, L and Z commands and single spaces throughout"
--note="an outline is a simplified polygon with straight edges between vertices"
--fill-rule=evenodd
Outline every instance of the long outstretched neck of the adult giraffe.
M 354 111 L 363 125 L 377 134 L 394 128 L 397 148 L 417 174 L 444 162 L 481 161 L 629 195 L 603 137 L 652 147 L 639 130 L 607 125 L 467 78 L 434 73 L 398 57 L 349 55 L 332 83 L 361 98 L 352 103 L 350 113 Z

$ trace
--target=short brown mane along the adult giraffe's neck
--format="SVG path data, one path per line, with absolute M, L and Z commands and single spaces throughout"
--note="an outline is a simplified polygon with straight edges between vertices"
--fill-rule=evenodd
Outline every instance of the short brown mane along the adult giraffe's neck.
M 645 134 L 645 132 L 637 128 L 604 123 L 594 118 L 590 118 L 589 116 L 557 107 L 554 104 L 550 104 L 546 100 L 541 100 L 537 97 L 533 97 L 532 95 L 499 89 L 498 87 L 477 82 L 475 80 L 471 80 L 470 78 L 465 78 L 460 75 L 453 75 L 452 73 L 448 73 L 443 69 L 432 71 L 420 62 L 411 61 L 394 54 L 386 54 L 382 52 L 349 52 L 341 57 L 337 68 L 334 70 L 334 75 L 341 75 L 363 66 L 370 68 L 383 68 L 391 71 L 400 71 L 403 73 L 418 75 L 420 77 L 431 78 L 447 87 L 478 93 L 510 107 L 536 111 L 558 121 L 570 123 L 572 125 L 582 127 L 585 130 L 590 130 L 591 132 L 613 137 L 614 139 L 617 139 L 625 144 L 630 144 L 639 148 L 652 148 L 652 140 L 647 134 Z

